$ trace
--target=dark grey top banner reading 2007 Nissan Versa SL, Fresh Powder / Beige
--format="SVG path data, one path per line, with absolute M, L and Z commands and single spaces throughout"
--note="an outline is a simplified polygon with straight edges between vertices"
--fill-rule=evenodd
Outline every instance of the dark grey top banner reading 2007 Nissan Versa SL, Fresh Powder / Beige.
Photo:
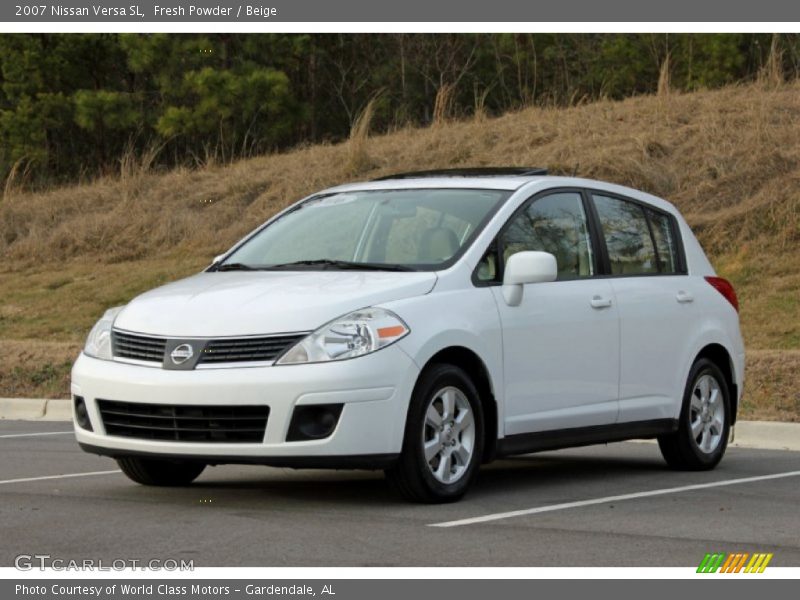
M 3 22 L 798 22 L 787 0 L 17 0 Z

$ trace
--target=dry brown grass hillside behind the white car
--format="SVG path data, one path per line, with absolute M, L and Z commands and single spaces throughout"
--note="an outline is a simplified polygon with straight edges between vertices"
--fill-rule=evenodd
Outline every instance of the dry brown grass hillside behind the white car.
M 363 124 L 362 124 L 363 125 Z M 396 171 L 547 166 L 641 188 L 686 215 L 739 292 L 750 418 L 800 420 L 800 85 L 529 108 L 0 200 L 0 396 L 64 396 L 104 307 L 198 270 L 276 210 Z

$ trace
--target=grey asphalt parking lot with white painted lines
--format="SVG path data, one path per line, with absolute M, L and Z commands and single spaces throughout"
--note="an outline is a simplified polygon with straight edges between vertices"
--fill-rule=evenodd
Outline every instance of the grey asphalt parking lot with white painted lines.
M 82 452 L 70 427 L 0 421 L 0 566 L 18 554 L 197 567 L 692 566 L 715 551 L 800 566 L 800 452 L 732 448 L 710 473 L 667 470 L 653 444 L 548 452 L 484 467 L 460 503 L 425 506 L 371 472 L 222 466 L 191 487 L 146 488 Z

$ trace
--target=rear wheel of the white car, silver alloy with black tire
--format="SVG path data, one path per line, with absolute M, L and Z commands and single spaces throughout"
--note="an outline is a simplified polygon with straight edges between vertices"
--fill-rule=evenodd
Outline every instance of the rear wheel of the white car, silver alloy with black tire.
M 677 431 L 658 438 L 664 460 L 682 471 L 716 467 L 728 446 L 731 414 L 724 374 L 715 363 L 701 358 L 689 372 Z

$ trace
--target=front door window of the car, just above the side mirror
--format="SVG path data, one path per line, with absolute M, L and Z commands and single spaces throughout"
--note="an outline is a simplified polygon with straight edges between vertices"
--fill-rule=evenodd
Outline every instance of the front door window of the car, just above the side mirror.
M 517 252 L 539 250 L 556 257 L 559 279 L 594 274 L 586 213 L 577 192 L 555 193 L 534 200 L 512 219 L 499 242 L 504 265 Z

